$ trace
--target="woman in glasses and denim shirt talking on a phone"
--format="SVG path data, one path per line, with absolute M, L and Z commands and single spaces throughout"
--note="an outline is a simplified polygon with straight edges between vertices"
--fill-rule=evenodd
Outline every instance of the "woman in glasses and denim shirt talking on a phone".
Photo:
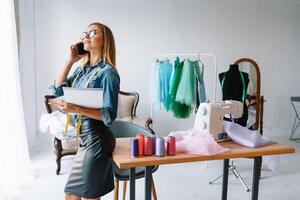
M 111 153 L 115 148 L 115 138 L 107 125 L 117 116 L 120 78 L 115 68 L 113 34 L 107 26 L 90 24 L 81 40 L 88 53 L 78 56 L 76 45 L 71 45 L 69 58 L 57 76 L 53 91 L 55 96 L 61 96 L 62 87 L 103 89 L 100 109 L 57 102 L 62 112 L 77 113 L 75 118 L 81 122 L 80 145 L 65 187 L 65 199 L 98 200 L 114 189 Z M 67 78 L 72 65 L 80 59 L 83 66 Z

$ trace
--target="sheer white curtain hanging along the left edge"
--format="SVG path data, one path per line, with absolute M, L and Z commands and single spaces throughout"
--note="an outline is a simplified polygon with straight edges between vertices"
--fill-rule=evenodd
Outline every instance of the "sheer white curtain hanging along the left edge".
M 13 0 L 0 1 L 0 27 L 0 200 L 15 200 L 22 199 L 33 180 L 33 171 L 22 105 Z

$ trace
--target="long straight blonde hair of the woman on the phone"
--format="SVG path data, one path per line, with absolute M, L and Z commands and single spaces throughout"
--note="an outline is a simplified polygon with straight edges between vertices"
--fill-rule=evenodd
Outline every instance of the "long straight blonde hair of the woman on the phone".
M 95 25 L 101 31 L 103 35 L 103 50 L 102 50 L 102 59 L 116 68 L 116 46 L 115 39 L 112 31 L 109 27 L 99 22 L 91 23 L 89 26 Z M 90 54 L 82 58 L 81 63 L 86 65 L 90 61 Z

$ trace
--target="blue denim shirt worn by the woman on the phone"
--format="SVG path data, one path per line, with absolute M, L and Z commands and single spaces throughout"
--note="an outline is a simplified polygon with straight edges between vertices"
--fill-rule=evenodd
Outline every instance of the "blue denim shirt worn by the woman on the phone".
M 90 79 L 98 67 L 101 70 Z M 94 66 L 77 67 L 73 74 L 60 86 L 56 87 L 54 82 L 51 88 L 54 96 L 59 97 L 64 95 L 63 87 L 83 88 L 89 79 L 88 88 L 101 88 L 103 90 L 103 106 L 100 108 L 100 113 L 104 124 L 110 125 L 117 117 L 120 77 L 117 70 L 105 61 L 101 60 Z

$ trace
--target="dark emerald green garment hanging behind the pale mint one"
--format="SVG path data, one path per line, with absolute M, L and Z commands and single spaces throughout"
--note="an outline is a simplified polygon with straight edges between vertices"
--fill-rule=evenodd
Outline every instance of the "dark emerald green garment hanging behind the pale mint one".
M 191 113 L 190 106 L 176 102 L 176 93 L 181 79 L 182 70 L 183 62 L 179 63 L 179 59 L 176 59 L 170 90 L 170 108 L 176 118 L 188 118 Z

